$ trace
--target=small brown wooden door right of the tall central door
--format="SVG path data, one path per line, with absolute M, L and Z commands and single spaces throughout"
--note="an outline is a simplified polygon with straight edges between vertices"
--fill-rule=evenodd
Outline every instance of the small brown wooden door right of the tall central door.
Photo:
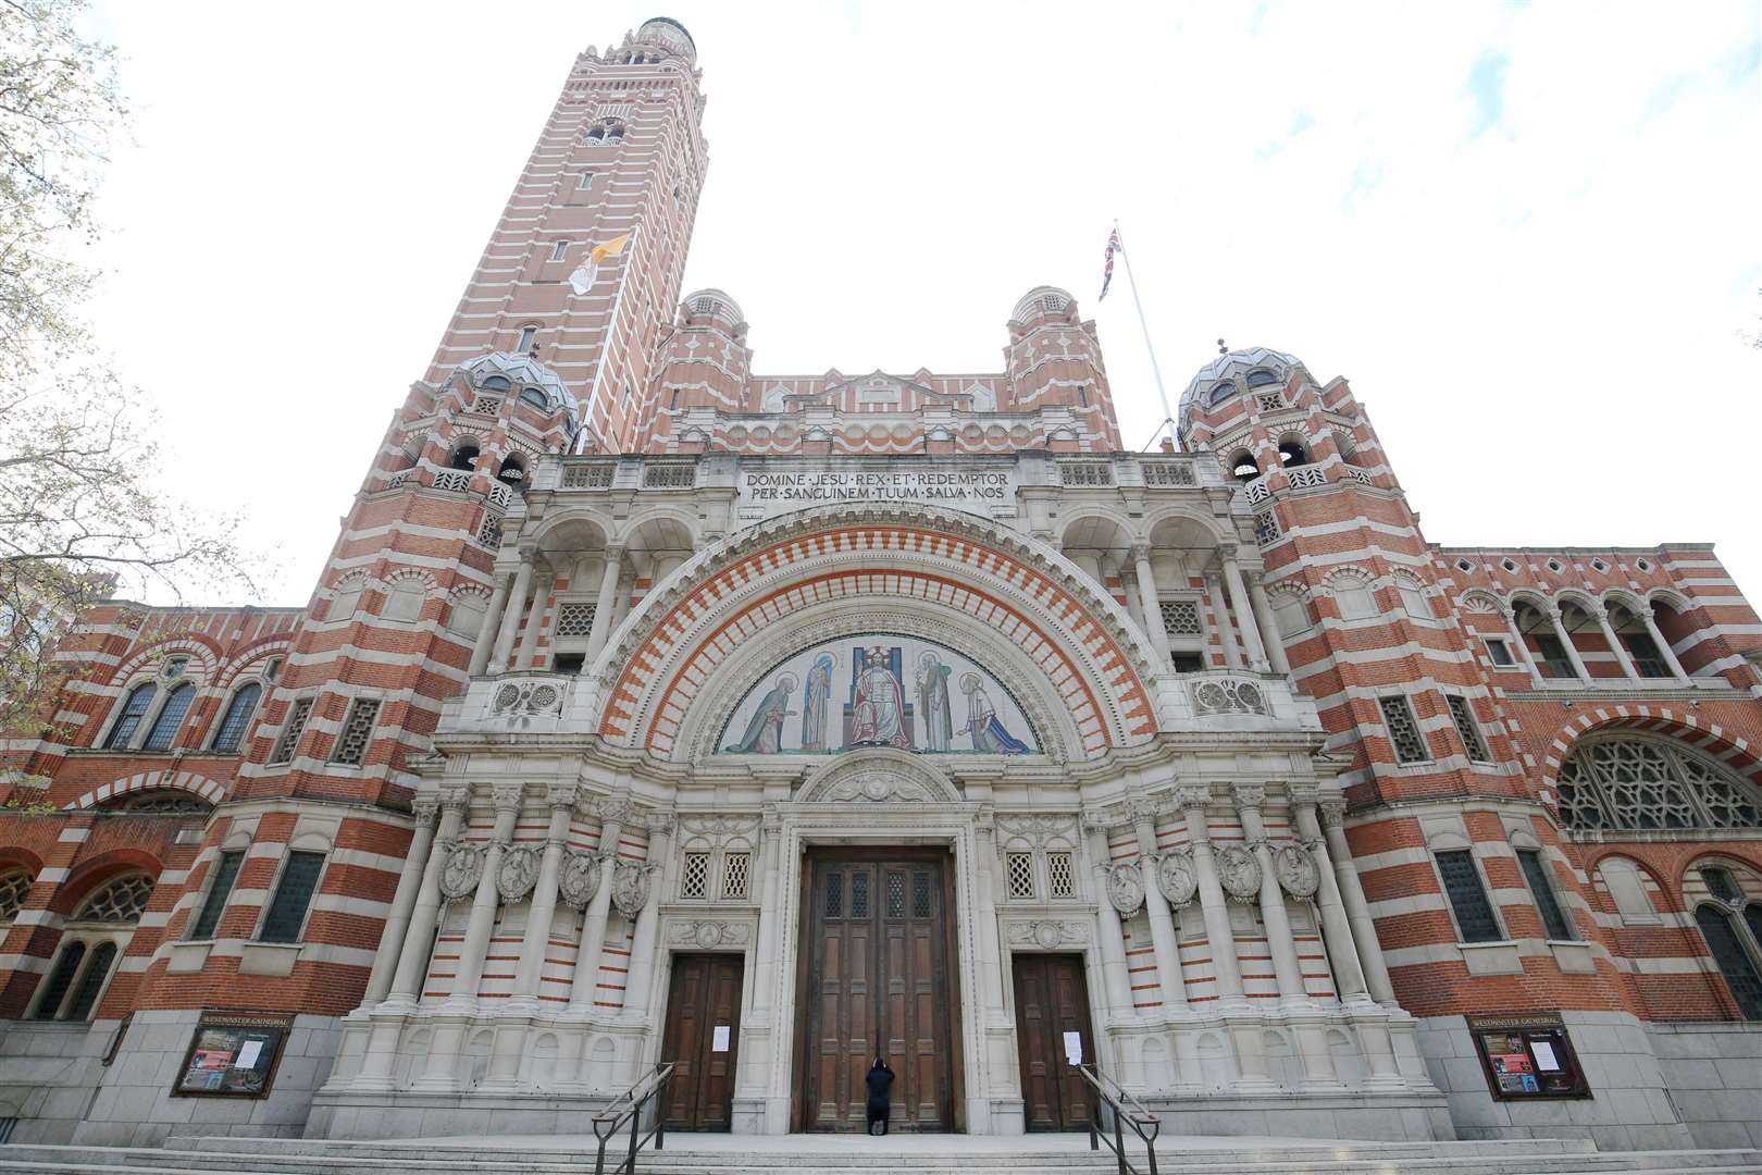
M 1080 955 L 1015 955 L 1015 1039 L 1031 1131 L 1075 1131 L 1089 1122 L 1089 1085 L 1066 1062 L 1075 1032 L 1084 1064 L 1094 1064 L 1089 992 Z

